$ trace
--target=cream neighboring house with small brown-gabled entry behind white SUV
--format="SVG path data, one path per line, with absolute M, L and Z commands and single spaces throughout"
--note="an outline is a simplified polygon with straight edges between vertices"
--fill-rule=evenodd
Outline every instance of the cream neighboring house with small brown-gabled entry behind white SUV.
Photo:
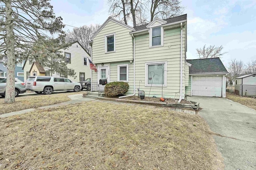
M 67 62 L 67 67 L 74 69 L 76 72 L 76 78 L 68 76 L 67 78 L 74 82 L 83 81 L 86 78 L 90 78 L 90 63 L 88 58 L 90 59 L 90 55 L 86 52 L 86 50 L 78 43 L 77 41 L 72 43 L 67 49 L 60 49 L 62 55 L 65 56 L 65 62 Z M 58 73 L 50 72 L 49 68 L 43 68 L 40 64 L 33 61 L 26 61 L 23 66 L 24 70 L 24 80 L 27 79 L 28 76 L 62 76 Z

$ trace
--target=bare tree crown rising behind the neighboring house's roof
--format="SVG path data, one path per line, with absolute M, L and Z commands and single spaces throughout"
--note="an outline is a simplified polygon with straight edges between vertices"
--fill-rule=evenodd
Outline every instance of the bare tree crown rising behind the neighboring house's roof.
M 66 41 L 68 43 L 72 43 L 74 41 L 78 41 L 84 49 L 86 49 L 87 53 L 91 53 L 91 47 L 86 42 L 90 41 L 92 35 L 99 29 L 100 25 L 84 25 L 79 28 L 74 28 L 73 31 L 68 30 L 66 35 Z

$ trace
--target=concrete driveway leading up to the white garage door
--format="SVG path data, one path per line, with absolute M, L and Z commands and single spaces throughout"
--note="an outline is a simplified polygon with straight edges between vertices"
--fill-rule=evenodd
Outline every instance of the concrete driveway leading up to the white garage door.
M 256 111 L 226 98 L 188 96 L 199 102 L 199 114 L 214 135 L 218 150 L 224 157 L 225 170 L 256 169 Z

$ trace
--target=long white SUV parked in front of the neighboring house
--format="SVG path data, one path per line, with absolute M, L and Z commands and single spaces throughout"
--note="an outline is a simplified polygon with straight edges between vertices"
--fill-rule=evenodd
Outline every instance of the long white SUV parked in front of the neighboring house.
M 26 88 L 36 93 L 52 94 L 53 91 L 57 90 L 79 92 L 81 84 L 64 77 L 29 76 L 26 81 Z

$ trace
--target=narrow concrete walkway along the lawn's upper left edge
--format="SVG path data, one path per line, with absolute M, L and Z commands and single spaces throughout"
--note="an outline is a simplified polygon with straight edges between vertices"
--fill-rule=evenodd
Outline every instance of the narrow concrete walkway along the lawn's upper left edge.
M 90 98 L 83 98 L 83 94 L 74 94 L 74 95 L 70 95 L 68 97 L 71 99 L 68 102 L 63 102 L 63 103 L 49 105 L 49 106 L 42 106 L 42 107 L 38 107 L 36 109 L 48 109 L 48 108 L 52 108 L 52 107 L 64 106 L 64 105 L 68 105 L 68 104 L 76 104 L 76 103 L 80 103 L 80 102 L 90 102 L 92 100 L 95 100 L 95 99 L 90 99 Z M 5 114 L 0 115 L 0 118 L 9 117 L 9 116 L 13 116 L 13 115 L 20 115 L 20 114 L 28 113 L 30 111 L 34 111 L 36 109 L 31 108 L 31 109 L 25 109 L 25 110 L 20 110 L 20 111 L 13 111 L 10 113 L 5 113 Z

